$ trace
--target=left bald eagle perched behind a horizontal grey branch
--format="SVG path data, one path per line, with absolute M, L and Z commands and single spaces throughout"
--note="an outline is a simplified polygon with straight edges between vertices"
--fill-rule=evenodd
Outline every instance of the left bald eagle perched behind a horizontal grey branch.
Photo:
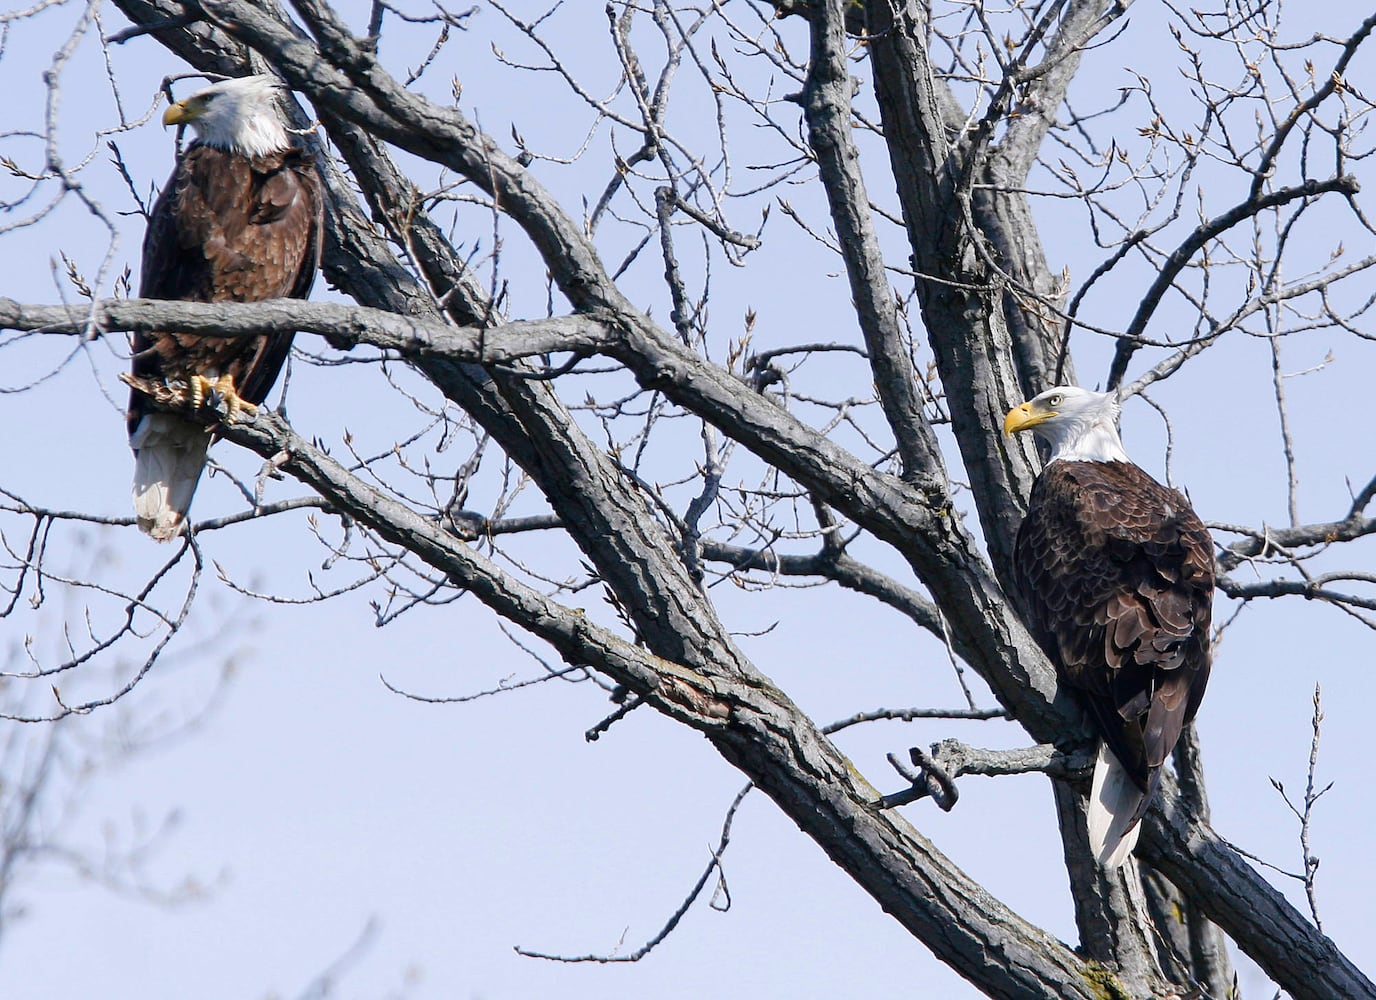
M 164 125 L 197 132 L 162 188 L 143 238 L 139 294 L 200 303 L 304 298 L 321 260 L 321 180 L 296 147 L 268 76 L 226 80 L 179 100 Z M 183 530 L 215 425 L 252 414 L 292 334 L 133 338 L 129 446 L 139 527 L 160 542 Z M 173 411 L 169 411 L 173 410 Z

